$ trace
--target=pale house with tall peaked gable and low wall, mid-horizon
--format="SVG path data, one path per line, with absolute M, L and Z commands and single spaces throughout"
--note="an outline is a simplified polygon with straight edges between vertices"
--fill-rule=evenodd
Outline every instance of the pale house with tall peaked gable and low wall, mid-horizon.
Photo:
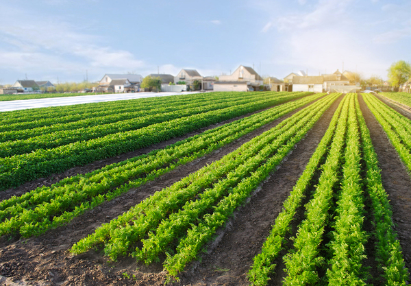
M 240 65 L 231 75 L 221 75 L 214 91 L 259 91 L 263 80 L 251 67 Z

